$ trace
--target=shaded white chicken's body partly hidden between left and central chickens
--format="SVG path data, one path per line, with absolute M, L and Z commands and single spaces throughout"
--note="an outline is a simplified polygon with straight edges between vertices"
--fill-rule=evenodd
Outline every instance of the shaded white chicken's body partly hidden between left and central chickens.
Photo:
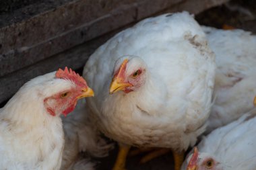
M 113 144 L 101 138 L 94 122 L 89 120 L 86 101 L 79 100 L 75 110 L 62 118 L 65 146 L 61 170 L 94 169 L 90 156 L 106 157 Z M 81 156 L 81 152 L 86 154 Z

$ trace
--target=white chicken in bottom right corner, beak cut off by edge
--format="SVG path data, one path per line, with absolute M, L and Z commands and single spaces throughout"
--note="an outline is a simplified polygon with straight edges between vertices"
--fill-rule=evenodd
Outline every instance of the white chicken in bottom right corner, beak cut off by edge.
M 183 163 L 183 170 L 255 170 L 256 110 L 208 134 Z M 253 117 L 254 116 L 254 117 Z M 250 118 L 253 117 L 253 118 Z

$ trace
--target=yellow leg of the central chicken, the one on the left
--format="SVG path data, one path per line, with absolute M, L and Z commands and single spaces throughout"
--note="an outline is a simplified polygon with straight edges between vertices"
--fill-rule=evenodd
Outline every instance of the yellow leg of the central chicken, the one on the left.
M 131 146 L 119 144 L 119 153 L 113 170 L 125 170 L 125 162 Z

